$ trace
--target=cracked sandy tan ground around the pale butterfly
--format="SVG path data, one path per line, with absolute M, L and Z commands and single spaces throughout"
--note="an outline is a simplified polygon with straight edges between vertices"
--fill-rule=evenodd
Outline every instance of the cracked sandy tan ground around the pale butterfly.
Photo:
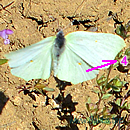
M 13 2 L 11 5 L 7 6 Z M 87 30 L 82 24 L 78 26 L 69 26 L 68 17 L 76 15 L 77 20 L 89 20 L 86 26 L 94 25 L 98 32 L 115 33 L 114 21 L 108 16 L 109 11 L 117 13 L 120 21 L 127 23 L 130 20 L 130 0 L 0 0 L 0 30 L 11 29 L 14 31 L 9 36 L 10 45 L 4 45 L 0 38 L 0 58 L 4 54 L 14 51 L 30 44 L 34 44 L 43 38 L 56 35 L 57 28 L 64 29 L 64 34 L 76 30 Z M 56 20 L 54 20 L 56 19 Z M 125 40 L 126 48 L 130 46 L 130 38 Z M 107 70 L 100 71 L 100 75 Z M 130 77 L 125 73 L 113 70 L 110 78 L 119 75 L 121 79 L 130 82 Z M 58 126 L 65 126 L 66 121 L 58 119 L 58 110 L 52 108 L 58 107 L 53 101 L 60 91 L 56 87 L 56 81 L 51 76 L 47 81 L 42 81 L 48 87 L 55 89 L 54 92 L 48 92 L 49 105 L 46 105 L 46 96 L 32 93 L 18 93 L 17 87 L 32 86 L 23 79 L 13 76 L 8 64 L 0 66 L 0 130 L 55 130 Z M 77 85 L 65 87 L 64 98 L 66 103 L 73 104 L 71 114 L 73 117 L 80 118 L 81 113 L 86 112 L 86 102 L 88 96 L 93 103 L 96 102 L 97 95 L 92 92 L 95 86 L 95 79 Z M 130 87 L 130 86 L 129 86 Z M 129 88 L 130 89 L 130 88 Z M 52 99 L 53 98 L 53 99 Z M 88 123 L 73 124 L 73 129 L 85 130 Z M 98 125 L 94 129 L 108 130 L 112 126 Z M 64 128 L 67 129 L 67 128 Z

